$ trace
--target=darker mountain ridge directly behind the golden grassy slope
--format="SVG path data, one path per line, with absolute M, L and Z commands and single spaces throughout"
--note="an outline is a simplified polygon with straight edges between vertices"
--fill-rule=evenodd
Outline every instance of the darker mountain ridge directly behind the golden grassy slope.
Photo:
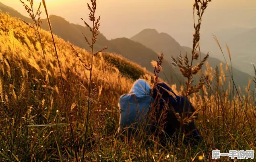
M 21 19 L 24 18 L 24 16 L 21 16 L 21 14 L 19 14 L 19 12 L 15 11 L 14 9 L 8 6 L 4 6 L 4 4 L 2 4 L 1 6 L 0 9 L 9 8 L 8 12 L 11 16 L 17 16 Z M 31 22 L 31 20 L 28 20 L 28 18 L 25 18 L 25 20 L 27 22 Z M 91 32 L 87 27 L 78 24 L 72 24 L 66 21 L 64 18 L 55 15 L 50 15 L 50 21 L 54 34 L 58 35 L 60 38 L 63 38 L 65 41 L 70 41 L 72 44 L 77 45 L 78 47 L 89 50 L 89 47 L 83 37 L 84 34 L 88 38 L 88 40 L 91 40 Z M 42 28 L 49 31 L 46 19 L 42 20 Z M 123 40 L 123 38 L 109 41 L 100 32 L 98 33 L 97 37 L 98 38 L 95 44 L 95 50 L 99 50 L 102 47 L 107 46 L 107 52 L 119 54 L 129 59 L 130 61 L 133 61 L 138 65 L 145 67 L 151 73 L 154 73 L 151 62 L 153 60 L 157 61 L 158 55 L 156 52 L 145 47 L 144 45 L 138 44 L 131 40 L 125 39 L 125 41 L 121 41 Z M 117 40 L 119 40 L 120 42 L 118 42 Z M 121 43 L 123 44 L 121 45 Z M 121 46 L 123 48 L 120 48 Z M 139 59 L 140 57 L 146 58 L 146 60 Z M 173 70 L 169 63 L 165 61 L 162 67 L 165 74 L 162 73 L 160 76 L 163 80 L 168 81 L 170 84 L 177 84 L 177 87 L 180 87 L 181 83 L 184 83 L 184 78 L 180 75 L 180 73 L 177 73 L 177 71 Z

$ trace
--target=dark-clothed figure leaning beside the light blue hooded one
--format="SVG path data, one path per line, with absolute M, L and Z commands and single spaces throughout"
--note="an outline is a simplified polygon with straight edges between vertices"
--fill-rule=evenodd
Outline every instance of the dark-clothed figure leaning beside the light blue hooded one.
M 168 142 L 166 140 L 173 137 L 176 130 L 179 130 L 180 128 L 184 130 L 185 134 L 189 134 L 194 128 L 196 129 L 194 120 L 197 119 L 198 116 L 197 113 L 195 113 L 196 109 L 192 103 L 187 97 L 177 96 L 175 93 L 171 93 L 173 93 L 171 88 L 165 83 L 158 83 L 157 89 L 155 89 L 153 93 L 153 97 L 155 98 L 153 104 L 153 118 L 154 123 L 157 126 L 155 136 L 159 136 L 162 145 L 167 144 Z M 175 96 L 178 98 L 175 99 Z M 171 99 L 173 99 L 173 101 L 171 101 Z M 183 103 L 186 103 L 185 107 Z M 184 108 L 185 113 L 183 113 Z M 184 127 L 181 126 L 181 118 L 183 114 L 186 119 L 188 119 L 188 122 L 186 122 Z M 200 132 L 198 134 L 200 135 Z M 194 137 L 192 136 L 192 138 Z M 201 137 L 198 137 L 198 139 L 201 139 Z

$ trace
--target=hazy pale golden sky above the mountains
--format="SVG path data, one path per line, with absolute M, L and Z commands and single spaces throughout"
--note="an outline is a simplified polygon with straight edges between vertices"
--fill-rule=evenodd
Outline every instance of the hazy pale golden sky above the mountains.
M 23 0 L 26 1 L 26 0 Z M 40 0 L 34 0 L 39 2 Z M 0 2 L 28 16 L 19 0 Z M 49 14 L 82 24 L 90 0 L 46 0 Z M 194 0 L 97 0 L 100 31 L 108 38 L 128 37 L 145 28 L 166 32 L 180 44 L 192 42 Z M 43 16 L 44 18 L 44 16 Z M 212 0 L 202 21 L 202 34 L 227 28 L 255 28 L 256 0 Z M 188 41 L 189 39 L 189 41 Z

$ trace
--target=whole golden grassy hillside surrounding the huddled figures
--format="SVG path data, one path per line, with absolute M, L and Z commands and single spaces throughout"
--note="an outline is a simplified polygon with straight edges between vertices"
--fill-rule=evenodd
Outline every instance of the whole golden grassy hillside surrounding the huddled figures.
M 63 159 L 70 159 L 71 155 L 74 158 L 69 127 L 60 125 L 60 133 L 56 134 L 56 126 L 27 126 L 54 124 L 55 120 L 57 123 L 68 123 L 51 34 L 42 30 L 41 36 L 56 116 L 50 105 L 43 55 L 34 31 L 20 20 L 0 13 L 0 148 L 3 149 L 0 151 L 0 161 L 59 160 L 58 147 Z M 85 131 L 89 73 L 84 70 L 69 43 L 57 37 L 55 41 L 60 54 L 68 106 L 72 113 L 74 140 L 80 150 Z M 83 60 L 89 60 L 87 51 L 74 48 Z M 150 81 L 152 74 L 113 54 L 103 53 L 94 59 L 94 97 L 90 106 L 91 136 L 86 139 L 87 160 L 136 161 L 139 141 L 134 140 L 127 144 L 120 142 L 115 136 L 119 118 L 117 103 L 119 96 L 129 91 L 133 79 L 147 78 Z M 132 73 L 134 71 L 136 73 Z M 142 150 L 143 160 L 197 161 L 198 156 L 202 155 L 203 161 L 211 161 L 212 150 L 218 149 L 222 153 L 227 153 L 228 150 L 255 150 L 256 140 L 249 126 L 256 130 L 255 89 L 242 96 L 241 101 L 239 96 L 232 96 L 232 82 L 224 79 L 223 69 L 208 66 L 204 74 L 207 76 L 207 84 L 200 90 L 203 95 L 194 93 L 190 96 L 190 101 L 196 109 L 200 109 L 196 124 L 205 142 L 193 149 L 184 146 L 177 148 L 172 144 L 162 148 L 156 139 L 146 137 L 152 145 L 147 151 Z M 249 84 L 250 86 L 252 87 Z M 175 85 L 172 88 L 175 90 Z M 181 94 L 182 91 L 184 87 L 177 93 Z M 48 111 L 49 117 L 46 116 Z M 57 146 L 56 138 L 60 139 L 61 146 Z

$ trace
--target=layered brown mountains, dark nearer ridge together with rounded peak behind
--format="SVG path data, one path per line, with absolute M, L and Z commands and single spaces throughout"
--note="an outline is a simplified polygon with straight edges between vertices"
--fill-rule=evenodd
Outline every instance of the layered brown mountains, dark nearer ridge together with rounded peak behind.
M 11 16 L 21 18 L 26 22 L 31 22 L 30 18 L 23 16 L 16 10 L 5 6 L 0 3 L 0 10 L 2 12 L 8 12 Z M 53 33 L 63 38 L 65 41 L 69 41 L 70 43 L 77 45 L 78 47 L 89 50 L 85 39 L 83 38 L 83 34 L 91 39 L 91 32 L 85 26 L 81 26 L 78 24 L 72 24 L 66 21 L 64 18 L 60 16 L 51 15 L 50 21 L 52 24 Z M 49 30 L 47 20 L 42 19 L 43 29 Z M 83 33 L 83 34 L 82 34 Z M 174 38 L 166 33 L 158 33 L 155 29 L 145 29 L 139 32 L 138 34 L 132 36 L 130 39 L 128 38 L 116 38 L 112 40 L 107 40 L 107 38 L 102 34 L 98 33 L 97 43 L 95 45 L 95 50 L 99 50 L 102 47 L 109 47 L 107 52 L 119 54 L 130 61 L 138 63 L 142 67 L 145 67 L 150 72 L 154 71 L 154 68 L 151 64 L 153 60 L 157 60 L 158 53 L 163 52 L 165 59 L 162 63 L 162 68 L 164 73 L 160 73 L 160 77 L 164 80 L 167 80 L 169 83 L 176 83 L 177 87 L 180 87 L 182 83 L 184 83 L 184 77 L 180 75 L 178 69 L 173 69 L 171 66 L 171 55 L 174 57 L 178 57 L 181 53 L 182 55 L 188 54 L 188 57 L 191 57 L 191 50 L 189 47 L 181 46 Z M 201 57 L 204 57 L 205 54 L 201 54 Z M 220 63 L 223 63 L 219 59 L 209 57 L 207 60 L 209 64 L 215 68 L 219 66 Z M 195 62 L 198 63 L 198 62 Z M 223 67 L 225 67 L 225 63 L 223 63 Z M 203 70 L 206 67 L 203 67 Z M 252 76 L 244 73 L 238 69 L 233 68 L 233 75 L 235 83 L 239 86 L 247 85 L 248 79 L 252 78 Z

